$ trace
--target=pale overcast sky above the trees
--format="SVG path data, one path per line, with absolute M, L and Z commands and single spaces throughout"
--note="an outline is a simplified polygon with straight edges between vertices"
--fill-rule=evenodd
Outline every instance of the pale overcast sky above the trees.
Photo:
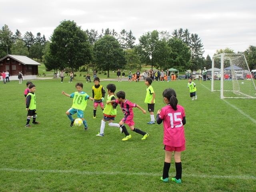
M 255 0 L 0 0 L 0 27 L 37 32 L 49 39 L 63 20 L 83 30 L 132 30 L 138 39 L 153 30 L 186 28 L 204 44 L 204 57 L 216 50 L 244 51 L 256 46 Z

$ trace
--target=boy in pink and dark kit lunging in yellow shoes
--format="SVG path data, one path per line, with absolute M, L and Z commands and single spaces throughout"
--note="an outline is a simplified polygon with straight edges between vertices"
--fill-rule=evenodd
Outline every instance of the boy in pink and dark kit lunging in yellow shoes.
M 132 108 L 134 107 L 138 107 L 140 110 L 142 110 L 142 112 L 144 114 L 146 114 L 146 111 L 144 109 L 142 109 L 139 105 L 132 103 L 130 101 L 128 101 L 125 98 L 125 92 L 124 91 L 119 91 L 116 93 L 116 100 L 112 100 L 112 101 L 107 101 L 106 104 L 108 103 L 118 103 L 120 104 L 120 107 L 122 109 L 122 111 L 124 112 L 124 118 L 122 118 L 122 120 L 119 122 L 120 127 L 122 128 L 122 132 L 124 132 L 125 137 L 122 139 L 122 141 L 126 141 L 130 138 L 132 138 L 132 135 L 130 135 L 126 129 L 126 127 L 124 126 L 124 123 L 128 124 L 128 126 L 130 127 L 130 130 L 143 135 L 141 140 L 144 140 L 147 138 L 147 136 L 149 136 L 149 134 L 147 132 L 144 132 L 138 128 L 135 128 L 134 125 L 134 121 L 133 121 L 133 117 L 134 117 L 134 113 Z

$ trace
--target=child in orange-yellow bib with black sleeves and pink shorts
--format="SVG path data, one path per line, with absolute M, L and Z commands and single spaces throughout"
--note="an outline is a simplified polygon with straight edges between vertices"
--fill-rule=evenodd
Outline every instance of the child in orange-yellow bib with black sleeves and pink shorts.
M 93 109 L 93 118 L 96 118 L 96 110 L 98 105 L 100 104 L 100 108 L 104 110 L 104 97 L 105 97 L 105 89 L 102 85 L 100 85 L 100 78 L 96 77 L 93 80 L 94 86 L 92 86 L 92 98 L 94 98 L 94 109 Z

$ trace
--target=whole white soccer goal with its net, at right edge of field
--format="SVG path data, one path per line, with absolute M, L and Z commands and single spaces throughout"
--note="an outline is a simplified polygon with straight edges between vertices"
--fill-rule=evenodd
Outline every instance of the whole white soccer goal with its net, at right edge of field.
M 256 87 L 244 54 L 212 57 L 212 91 L 220 98 L 256 98 Z

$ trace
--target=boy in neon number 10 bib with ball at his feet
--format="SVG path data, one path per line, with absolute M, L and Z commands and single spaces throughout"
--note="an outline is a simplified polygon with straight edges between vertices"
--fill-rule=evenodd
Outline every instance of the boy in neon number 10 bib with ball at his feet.
M 86 94 L 86 92 L 82 91 L 83 86 L 84 85 L 82 83 L 76 83 L 76 90 L 77 90 L 76 92 L 69 95 L 69 94 L 66 94 L 64 91 L 62 91 L 62 94 L 66 95 L 70 98 L 73 98 L 73 104 L 72 104 L 71 108 L 66 112 L 68 118 L 71 121 L 70 127 L 73 126 L 74 121 L 75 121 L 72 118 L 72 115 L 77 113 L 77 117 L 81 118 L 83 120 L 84 130 L 88 130 L 86 120 L 84 119 L 84 110 L 87 106 L 87 100 L 88 99 L 93 100 L 93 98 L 88 96 L 88 94 Z

